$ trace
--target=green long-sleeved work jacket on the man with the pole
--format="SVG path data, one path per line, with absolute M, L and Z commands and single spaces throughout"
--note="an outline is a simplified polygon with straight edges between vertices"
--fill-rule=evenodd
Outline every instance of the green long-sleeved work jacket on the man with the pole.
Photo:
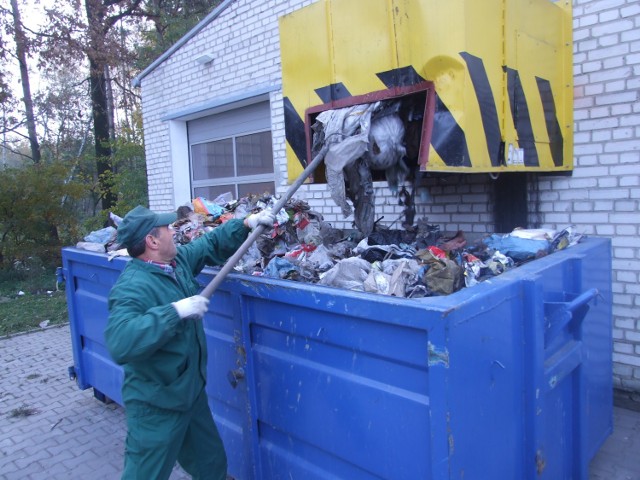
M 207 378 L 202 320 L 181 320 L 172 302 L 200 291 L 195 276 L 220 265 L 247 238 L 233 219 L 178 247 L 175 278 L 162 268 L 131 259 L 109 294 L 107 348 L 124 368 L 122 399 L 170 410 L 188 410 Z

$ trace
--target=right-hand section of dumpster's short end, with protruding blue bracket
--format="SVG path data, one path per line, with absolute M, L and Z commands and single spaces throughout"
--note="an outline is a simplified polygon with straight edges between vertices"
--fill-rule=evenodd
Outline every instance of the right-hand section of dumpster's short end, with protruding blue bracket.
M 590 460 L 612 431 L 610 255 L 608 244 L 576 249 L 541 274 L 537 478 L 587 479 Z

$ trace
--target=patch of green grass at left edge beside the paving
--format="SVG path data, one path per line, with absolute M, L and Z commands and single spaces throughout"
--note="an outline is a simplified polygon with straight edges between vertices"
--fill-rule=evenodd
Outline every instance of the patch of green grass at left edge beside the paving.
M 56 291 L 55 270 L 0 274 L 0 336 L 68 321 L 64 287 Z

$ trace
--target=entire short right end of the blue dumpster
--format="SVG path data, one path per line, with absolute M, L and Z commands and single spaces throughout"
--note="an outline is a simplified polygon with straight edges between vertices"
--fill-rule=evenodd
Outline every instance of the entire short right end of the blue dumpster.
M 588 478 L 612 429 L 610 265 L 608 241 L 581 244 L 452 311 L 452 478 Z

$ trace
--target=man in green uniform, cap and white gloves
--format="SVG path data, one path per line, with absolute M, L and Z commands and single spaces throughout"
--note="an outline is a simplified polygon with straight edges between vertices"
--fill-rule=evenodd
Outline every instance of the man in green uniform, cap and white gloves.
M 137 206 L 118 227 L 132 257 L 109 295 L 105 339 L 124 369 L 127 418 L 123 479 L 168 479 L 176 461 L 193 478 L 225 480 L 227 457 L 209 410 L 202 317 L 209 299 L 195 276 L 224 263 L 268 210 L 232 219 L 176 247 L 175 213 Z

